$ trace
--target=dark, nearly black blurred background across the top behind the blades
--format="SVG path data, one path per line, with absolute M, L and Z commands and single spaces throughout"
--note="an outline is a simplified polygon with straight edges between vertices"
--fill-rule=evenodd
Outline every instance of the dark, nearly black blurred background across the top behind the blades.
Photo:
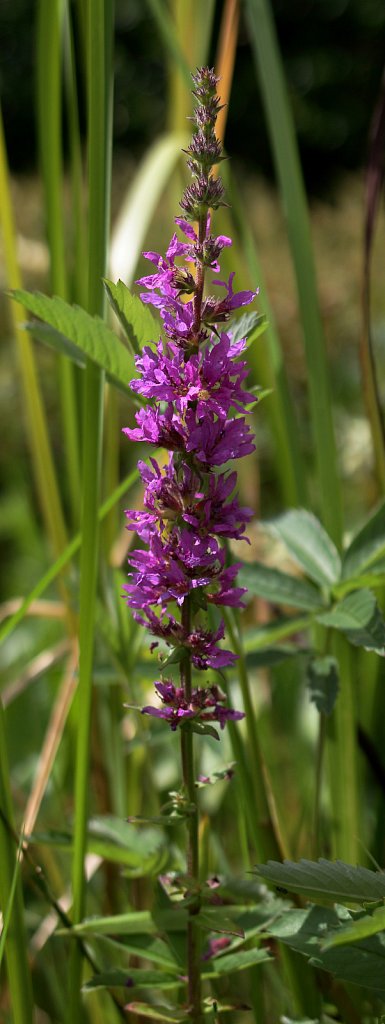
M 218 3 L 214 41 L 221 8 Z M 272 9 L 306 184 L 311 193 L 324 193 L 336 175 L 365 161 L 384 61 L 385 6 L 382 0 L 273 0 Z M 0 90 L 9 160 L 17 170 L 36 165 L 35 11 L 34 0 L 1 0 Z M 144 0 L 117 0 L 115 60 L 115 143 L 138 156 L 165 127 L 167 116 L 165 55 Z M 271 175 L 243 16 L 226 147 L 248 168 Z

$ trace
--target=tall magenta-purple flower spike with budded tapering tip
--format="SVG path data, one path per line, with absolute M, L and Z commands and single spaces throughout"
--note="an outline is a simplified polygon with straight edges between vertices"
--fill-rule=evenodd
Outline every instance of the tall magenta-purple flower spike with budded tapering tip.
M 234 585 L 239 566 L 228 563 L 221 541 L 245 538 L 252 512 L 240 505 L 237 473 L 227 464 L 255 447 L 247 421 L 255 397 L 244 387 L 246 339 L 232 341 L 231 326 L 221 330 L 221 325 L 256 292 L 234 292 L 233 273 L 228 282 L 212 282 L 222 290 L 219 296 L 204 291 L 206 273 L 219 272 L 220 254 L 231 240 L 211 233 L 210 208 L 223 205 L 222 183 L 212 174 L 221 160 L 214 131 L 220 109 L 217 79 L 206 68 L 193 78 L 198 105 L 187 164 L 194 181 L 181 200 L 184 216 L 176 218 L 184 240 L 174 233 L 165 256 L 145 252 L 155 272 L 138 282 L 145 289 L 142 302 L 160 312 L 164 337 L 136 358 L 139 376 L 131 388 L 147 404 L 125 433 L 166 449 L 169 456 L 164 466 L 154 458 L 149 465 L 138 463 L 144 509 L 126 515 L 128 528 L 145 547 L 131 555 L 125 592 L 138 622 L 176 648 L 180 659 L 188 657 L 195 669 L 206 671 L 234 662 L 221 646 L 223 622 L 210 628 L 209 609 L 243 606 L 245 591 Z M 242 717 L 224 707 L 215 686 L 186 693 L 171 682 L 158 682 L 156 690 L 161 707 L 146 707 L 143 713 L 166 719 L 172 729 L 186 719 L 223 727 L 228 718 Z

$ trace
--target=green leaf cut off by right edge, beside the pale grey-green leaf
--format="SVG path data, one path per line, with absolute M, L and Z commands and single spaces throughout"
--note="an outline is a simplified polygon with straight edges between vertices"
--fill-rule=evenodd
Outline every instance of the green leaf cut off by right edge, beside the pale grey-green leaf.
M 385 569 L 385 502 L 353 537 L 342 561 L 342 578 L 358 577 L 371 569 Z

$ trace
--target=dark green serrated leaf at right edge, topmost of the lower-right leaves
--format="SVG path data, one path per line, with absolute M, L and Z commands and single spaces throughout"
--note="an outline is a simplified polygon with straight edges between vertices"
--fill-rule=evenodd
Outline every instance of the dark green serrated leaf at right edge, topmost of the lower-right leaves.
M 368 867 L 353 867 L 342 860 L 269 860 L 257 864 L 258 873 L 306 899 L 365 903 L 385 898 L 385 874 Z

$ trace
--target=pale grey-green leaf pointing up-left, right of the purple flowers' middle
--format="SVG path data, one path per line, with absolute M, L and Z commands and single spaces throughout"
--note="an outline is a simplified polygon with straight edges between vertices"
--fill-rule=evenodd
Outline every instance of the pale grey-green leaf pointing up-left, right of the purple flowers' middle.
M 340 579 L 341 559 L 318 519 L 305 509 L 290 509 L 265 525 L 271 527 L 307 575 L 320 587 Z

